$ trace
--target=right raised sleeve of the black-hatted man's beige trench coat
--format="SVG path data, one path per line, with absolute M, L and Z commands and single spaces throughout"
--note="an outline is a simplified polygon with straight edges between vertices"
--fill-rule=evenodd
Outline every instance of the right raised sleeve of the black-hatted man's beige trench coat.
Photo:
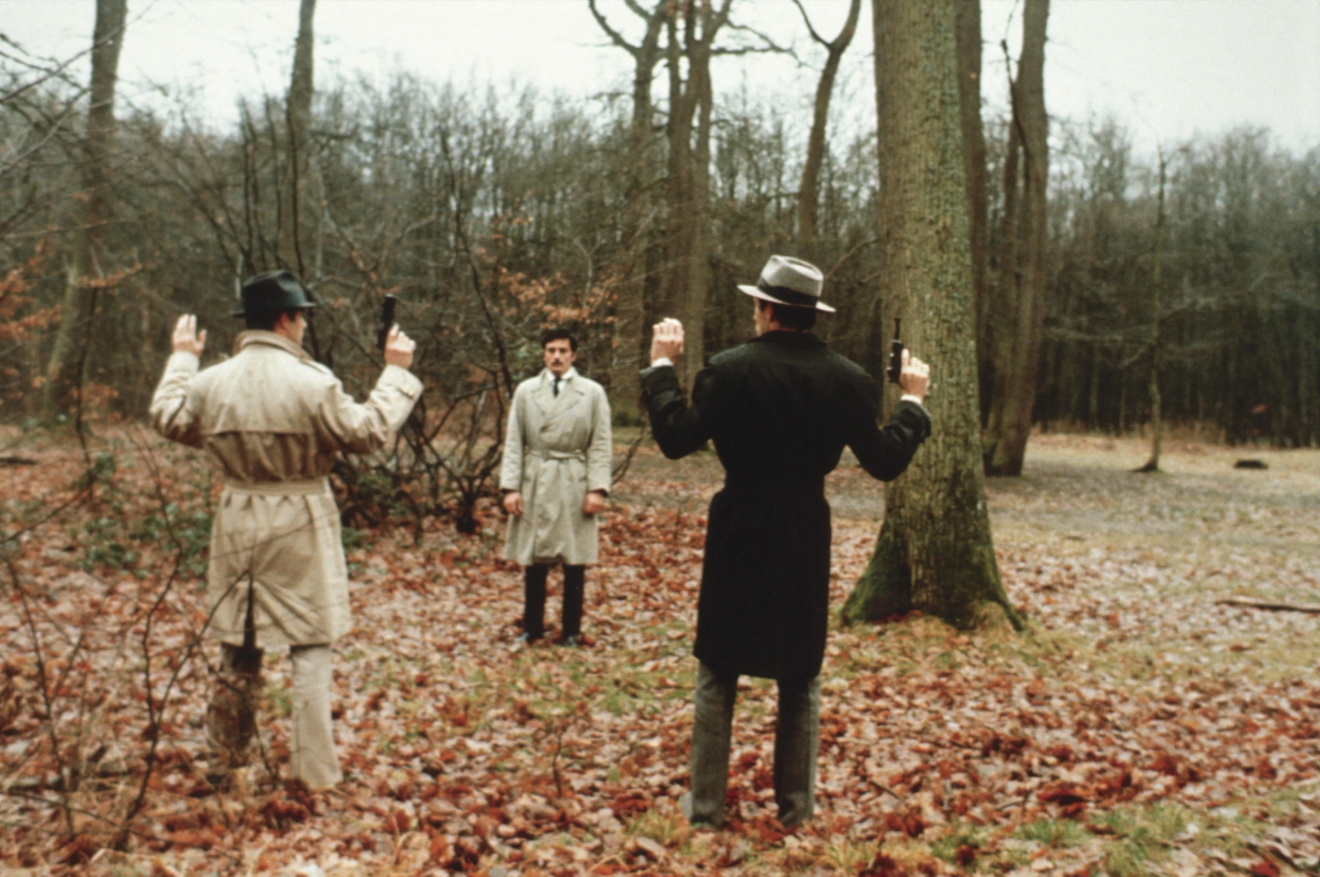
M 421 380 L 399 366 L 385 366 L 362 404 L 343 391 L 338 379 L 330 380 L 314 412 L 321 441 L 352 453 L 380 450 L 408 420 L 420 395 Z

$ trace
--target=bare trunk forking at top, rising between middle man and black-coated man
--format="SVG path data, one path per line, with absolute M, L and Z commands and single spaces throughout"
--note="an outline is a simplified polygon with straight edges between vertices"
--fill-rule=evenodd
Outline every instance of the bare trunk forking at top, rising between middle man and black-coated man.
M 651 258 L 656 205 L 651 185 L 656 177 L 656 137 L 652 133 L 655 106 L 651 83 L 660 61 L 660 33 L 667 21 L 668 0 L 657 0 L 649 11 L 638 3 L 628 7 L 645 21 L 642 40 L 632 45 L 601 15 L 595 0 L 589 0 L 591 15 L 610 40 L 632 55 L 632 123 L 628 132 L 628 181 L 624 193 L 627 215 L 620 239 L 623 247 L 623 284 L 616 305 L 618 335 L 611 370 L 611 396 L 615 411 L 640 417 L 642 384 L 639 368 L 644 365 L 647 346 L 648 292 L 652 289 Z

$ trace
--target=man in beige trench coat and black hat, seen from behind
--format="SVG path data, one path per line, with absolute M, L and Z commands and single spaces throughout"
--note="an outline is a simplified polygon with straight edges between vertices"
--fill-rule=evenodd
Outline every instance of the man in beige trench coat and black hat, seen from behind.
M 341 450 L 392 441 L 421 394 L 409 371 L 413 342 L 397 326 L 385 370 L 364 404 L 302 350 L 315 305 L 288 271 L 243 287 L 247 332 L 235 355 L 198 371 L 206 332 L 181 317 L 150 416 L 166 438 L 203 448 L 224 474 L 211 527 L 207 634 L 220 671 L 207 709 L 213 777 L 247 763 L 261 692 L 261 652 L 293 660 L 290 773 L 313 789 L 343 774 L 330 728 L 330 643 L 352 626 L 339 511 L 326 475 Z

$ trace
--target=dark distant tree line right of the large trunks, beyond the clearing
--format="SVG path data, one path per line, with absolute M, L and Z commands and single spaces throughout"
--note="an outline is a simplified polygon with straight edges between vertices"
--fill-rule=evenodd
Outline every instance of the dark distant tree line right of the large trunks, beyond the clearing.
M 1134 156 L 1111 119 L 1061 129 L 1038 421 L 1143 424 L 1158 355 L 1167 419 L 1230 442 L 1316 445 L 1320 151 L 1238 129 L 1162 152 Z

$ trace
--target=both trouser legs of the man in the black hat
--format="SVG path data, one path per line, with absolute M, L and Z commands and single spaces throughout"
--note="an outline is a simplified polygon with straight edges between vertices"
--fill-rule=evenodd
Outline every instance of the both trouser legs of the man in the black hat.
M 256 708 L 261 697 L 261 650 L 220 645 L 220 668 L 206 711 L 206 732 L 216 769 L 248 763 L 256 734 Z M 293 738 L 289 773 L 312 789 L 343 779 L 330 726 L 330 684 L 334 652 L 330 646 L 292 646 Z

